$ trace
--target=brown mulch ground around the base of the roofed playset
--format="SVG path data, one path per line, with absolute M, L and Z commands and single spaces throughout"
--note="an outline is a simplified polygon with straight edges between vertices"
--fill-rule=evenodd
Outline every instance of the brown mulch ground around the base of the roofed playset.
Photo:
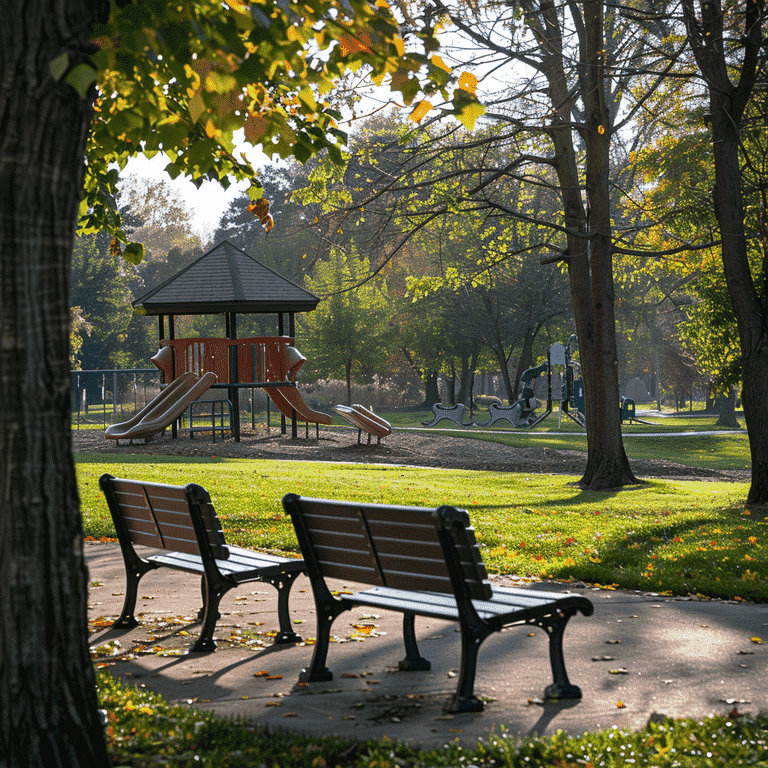
M 173 456 L 219 456 L 242 459 L 278 459 L 296 461 L 332 461 L 364 464 L 401 464 L 446 469 L 472 469 L 489 472 L 522 472 L 531 474 L 579 475 L 586 466 L 586 453 L 560 451 L 553 448 L 515 448 L 485 440 L 454 437 L 438 430 L 417 432 L 396 430 L 376 444 L 357 442 L 357 430 L 345 427 L 322 427 L 320 439 L 310 427 L 309 438 L 304 426 L 299 426 L 296 439 L 282 435 L 272 427 L 243 430 L 240 442 L 231 438 L 217 438 L 203 433 L 190 439 L 187 432 L 171 438 L 170 430 L 148 443 L 133 444 L 107 440 L 101 430 L 74 430 L 76 452 L 105 454 L 148 454 Z M 710 480 L 749 482 L 748 470 L 711 470 L 688 467 L 669 461 L 633 461 L 635 475 L 642 478 L 666 478 L 673 480 Z

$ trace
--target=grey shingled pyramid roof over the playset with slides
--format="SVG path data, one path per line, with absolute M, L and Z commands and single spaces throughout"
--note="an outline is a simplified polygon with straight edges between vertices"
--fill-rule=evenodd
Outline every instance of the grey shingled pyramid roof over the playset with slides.
M 222 240 L 136 299 L 142 315 L 311 312 L 320 298 Z

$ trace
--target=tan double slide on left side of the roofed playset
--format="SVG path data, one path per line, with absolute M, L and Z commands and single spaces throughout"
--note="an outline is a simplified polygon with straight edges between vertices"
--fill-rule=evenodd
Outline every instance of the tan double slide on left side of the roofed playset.
M 199 379 L 194 373 L 184 373 L 174 379 L 133 418 L 107 427 L 104 437 L 108 440 L 133 440 L 156 435 L 173 424 L 190 403 L 215 383 L 215 373 L 206 373 Z

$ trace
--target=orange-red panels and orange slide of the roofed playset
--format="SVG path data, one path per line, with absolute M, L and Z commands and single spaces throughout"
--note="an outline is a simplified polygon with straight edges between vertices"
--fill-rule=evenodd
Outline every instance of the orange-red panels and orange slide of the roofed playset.
M 315 424 L 332 424 L 333 417 L 315 411 L 305 402 L 296 384 L 296 375 L 307 358 L 290 336 L 258 336 L 245 339 L 163 339 L 152 362 L 163 372 L 165 381 L 174 381 L 186 372 L 214 373 L 216 387 L 230 391 L 237 400 L 241 388 L 261 388 L 277 409 L 288 418 Z M 232 432 L 239 439 L 237 408 L 233 409 Z

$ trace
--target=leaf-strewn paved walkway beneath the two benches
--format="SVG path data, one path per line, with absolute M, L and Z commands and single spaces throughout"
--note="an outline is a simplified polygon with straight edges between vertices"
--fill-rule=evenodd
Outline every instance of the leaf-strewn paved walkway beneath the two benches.
M 419 647 L 432 671 L 397 672 L 404 655 L 400 615 L 363 609 L 343 614 L 333 629 L 339 642 L 328 656 L 334 680 L 299 686 L 312 647 L 270 645 L 277 600 L 268 584 L 232 590 L 221 605 L 218 650 L 186 654 L 199 632 L 197 579 L 168 569 L 148 574 L 139 588 L 139 627 L 116 631 L 109 624 L 120 614 L 125 586 L 119 546 L 86 544 L 85 551 L 92 580 L 91 643 L 102 654 L 108 644 L 115 652 L 100 663 L 171 702 L 243 715 L 272 728 L 351 738 L 386 735 L 425 747 L 459 739 L 473 746 L 502 725 L 515 735 L 558 728 L 579 734 L 614 725 L 641 728 L 654 712 L 704 717 L 734 708 L 757 713 L 768 704 L 766 605 L 580 587 L 595 613 L 570 621 L 565 658 L 571 681 L 582 688 L 581 701 L 540 701 L 551 682 L 547 638 L 542 630 L 518 627 L 489 638 L 480 651 L 475 692 L 487 698 L 485 712 L 446 716 L 442 705 L 455 690 L 460 663 L 454 624 L 417 619 Z M 299 634 L 314 636 L 314 602 L 303 577 L 291 592 L 291 616 Z

